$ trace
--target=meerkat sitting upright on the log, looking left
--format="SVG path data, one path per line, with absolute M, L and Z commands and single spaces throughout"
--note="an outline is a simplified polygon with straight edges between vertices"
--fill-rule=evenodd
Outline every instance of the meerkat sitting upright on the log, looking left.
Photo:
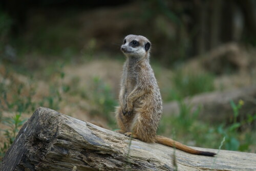
M 214 156 L 175 140 L 156 135 L 162 115 L 162 97 L 150 65 L 151 42 L 144 36 L 127 35 L 121 45 L 126 56 L 121 77 L 116 119 L 119 133 L 147 143 L 176 147 L 187 153 Z

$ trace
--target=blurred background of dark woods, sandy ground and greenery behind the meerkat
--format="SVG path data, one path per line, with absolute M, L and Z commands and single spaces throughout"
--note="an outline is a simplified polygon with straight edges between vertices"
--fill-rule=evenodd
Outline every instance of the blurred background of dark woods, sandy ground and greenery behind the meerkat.
M 39 106 L 117 129 L 128 34 L 152 42 L 158 134 L 255 153 L 255 9 L 253 0 L 2 0 L 0 155 Z

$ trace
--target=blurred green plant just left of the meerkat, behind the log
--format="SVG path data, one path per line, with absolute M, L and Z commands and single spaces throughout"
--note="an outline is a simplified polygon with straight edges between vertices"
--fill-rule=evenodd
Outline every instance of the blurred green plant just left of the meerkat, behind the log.
M 89 89 L 90 92 L 87 97 L 92 101 L 94 106 L 91 114 L 104 116 L 109 125 L 114 126 L 115 118 L 113 112 L 115 111 L 115 106 L 117 106 L 117 101 L 110 86 L 96 76 L 92 78 Z

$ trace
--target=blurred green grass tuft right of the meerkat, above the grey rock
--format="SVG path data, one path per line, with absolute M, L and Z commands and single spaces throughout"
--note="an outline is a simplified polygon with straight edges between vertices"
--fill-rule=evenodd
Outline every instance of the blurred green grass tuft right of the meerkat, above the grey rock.
M 214 91 L 214 76 L 209 73 L 185 74 L 182 71 L 177 71 L 172 78 L 172 82 L 174 87 L 169 90 L 166 101 Z

